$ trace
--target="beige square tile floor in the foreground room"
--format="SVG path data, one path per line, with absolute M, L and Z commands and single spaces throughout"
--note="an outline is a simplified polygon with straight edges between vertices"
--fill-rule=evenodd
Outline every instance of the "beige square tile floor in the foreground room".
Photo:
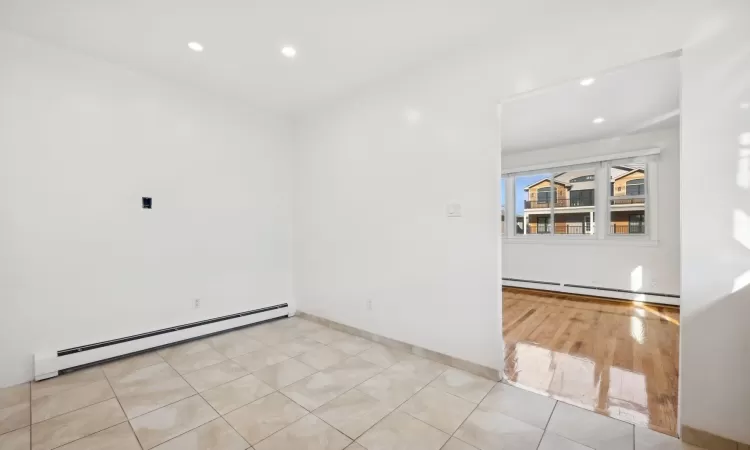
M 0 389 L 2 450 L 678 450 L 299 318 Z

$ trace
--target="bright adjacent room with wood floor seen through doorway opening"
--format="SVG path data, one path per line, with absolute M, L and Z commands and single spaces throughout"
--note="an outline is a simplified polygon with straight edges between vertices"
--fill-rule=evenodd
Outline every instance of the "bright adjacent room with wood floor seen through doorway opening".
M 506 380 L 671 435 L 679 97 L 670 54 L 500 105 Z

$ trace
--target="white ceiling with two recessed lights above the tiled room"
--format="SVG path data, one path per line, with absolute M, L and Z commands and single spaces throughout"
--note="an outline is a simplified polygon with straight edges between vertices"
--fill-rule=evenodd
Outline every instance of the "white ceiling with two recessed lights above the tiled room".
M 290 112 L 473 43 L 518 19 L 514 3 L 0 0 L 0 27 Z M 190 41 L 205 51 L 190 51 Z M 284 58 L 284 45 L 296 47 L 297 58 Z

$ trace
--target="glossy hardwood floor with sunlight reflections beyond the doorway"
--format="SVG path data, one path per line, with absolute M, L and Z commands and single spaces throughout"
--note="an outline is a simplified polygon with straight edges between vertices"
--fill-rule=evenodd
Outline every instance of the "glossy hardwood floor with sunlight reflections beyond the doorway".
M 679 320 L 676 307 L 504 288 L 505 376 L 675 435 Z

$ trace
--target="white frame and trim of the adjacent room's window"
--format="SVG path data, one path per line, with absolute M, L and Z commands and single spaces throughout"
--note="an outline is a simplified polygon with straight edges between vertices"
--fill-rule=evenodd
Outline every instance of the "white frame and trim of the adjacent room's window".
M 502 182 L 505 183 L 505 229 L 502 235 L 505 242 L 588 242 L 588 243 L 642 243 L 644 245 L 655 245 L 657 240 L 657 203 L 658 203 L 658 155 L 660 149 L 651 148 L 624 152 L 614 155 L 598 156 L 584 158 L 567 163 L 550 163 L 530 167 L 524 167 L 514 170 L 502 171 Z M 628 163 L 645 164 L 645 183 L 644 195 L 635 196 L 618 196 L 623 198 L 644 198 L 644 215 L 646 221 L 646 230 L 643 234 L 611 234 L 611 211 L 610 201 L 614 197 L 614 192 L 610 193 L 610 178 L 612 165 L 627 165 Z M 592 234 L 555 234 L 554 226 L 554 201 L 550 204 L 550 223 L 552 230 L 549 234 L 516 234 L 516 177 L 528 176 L 535 174 L 551 174 L 552 184 L 554 186 L 554 175 L 559 172 L 595 169 L 594 181 L 594 233 Z M 557 198 L 556 190 L 554 199 Z

